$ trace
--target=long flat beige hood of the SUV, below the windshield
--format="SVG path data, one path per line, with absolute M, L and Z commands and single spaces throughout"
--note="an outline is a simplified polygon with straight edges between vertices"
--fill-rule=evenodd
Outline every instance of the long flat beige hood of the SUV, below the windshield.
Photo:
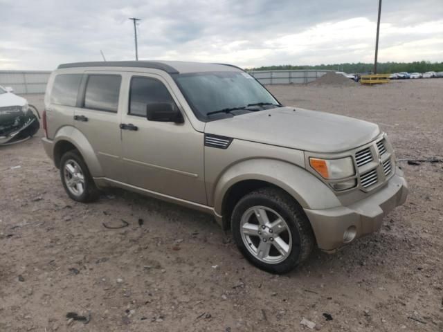
M 205 133 L 332 153 L 364 145 L 377 138 L 380 129 L 377 124 L 347 116 L 282 107 L 207 122 Z

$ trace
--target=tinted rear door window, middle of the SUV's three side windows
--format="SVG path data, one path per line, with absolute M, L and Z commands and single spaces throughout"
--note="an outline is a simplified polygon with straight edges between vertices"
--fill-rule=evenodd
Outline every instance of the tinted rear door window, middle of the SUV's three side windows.
M 121 80 L 122 77 L 119 75 L 89 75 L 84 94 L 84 107 L 117 112 Z

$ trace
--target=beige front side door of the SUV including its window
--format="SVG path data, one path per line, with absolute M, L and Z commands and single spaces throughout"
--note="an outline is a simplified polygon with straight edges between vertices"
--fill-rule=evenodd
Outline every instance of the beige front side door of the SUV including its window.
M 136 187 L 206 204 L 204 134 L 195 131 L 168 83 L 159 75 L 130 77 L 127 111 L 121 135 L 127 182 Z M 174 103 L 184 122 L 147 120 L 146 109 L 156 102 Z

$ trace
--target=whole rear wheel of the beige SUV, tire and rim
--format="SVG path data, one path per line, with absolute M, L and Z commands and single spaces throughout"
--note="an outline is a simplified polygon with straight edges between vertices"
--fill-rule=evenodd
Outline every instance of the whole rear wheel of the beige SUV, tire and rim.
M 96 184 L 78 151 L 68 151 L 62 156 L 60 177 L 66 194 L 74 201 L 87 203 L 98 199 Z

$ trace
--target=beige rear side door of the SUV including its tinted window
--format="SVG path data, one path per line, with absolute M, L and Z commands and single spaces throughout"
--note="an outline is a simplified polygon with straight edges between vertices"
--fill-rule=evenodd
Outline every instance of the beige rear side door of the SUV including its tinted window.
M 123 76 L 116 72 L 87 72 L 80 86 L 78 104 L 74 112 L 74 126 L 93 147 L 104 176 L 125 181 L 121 167 L 120 94 Z

